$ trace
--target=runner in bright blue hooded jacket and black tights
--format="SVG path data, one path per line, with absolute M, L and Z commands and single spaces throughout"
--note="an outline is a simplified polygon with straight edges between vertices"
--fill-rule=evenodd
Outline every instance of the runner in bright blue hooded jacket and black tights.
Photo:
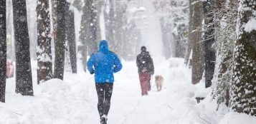
M 113 91 L 114 76 L 122 69 L 118 56 L 108 50 L 108 42 L 100 41 L 99 51 L 93 53 L 87 61 L 87 69 L 95 73 L 95 87 L 98 94 L 98 112 L 100 123 L 106 124 L 110 99 Z

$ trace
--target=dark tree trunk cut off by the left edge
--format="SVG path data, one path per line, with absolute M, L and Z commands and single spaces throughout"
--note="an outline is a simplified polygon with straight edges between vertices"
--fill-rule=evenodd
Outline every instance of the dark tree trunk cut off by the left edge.
M 6 0 L 0 1 L 0 102 L 5 102 L 6 87 Z

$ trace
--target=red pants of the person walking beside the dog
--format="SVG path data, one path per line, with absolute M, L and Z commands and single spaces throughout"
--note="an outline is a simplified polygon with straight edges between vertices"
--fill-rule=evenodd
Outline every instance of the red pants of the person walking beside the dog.
M 148 95 L 149 73 L 138 74 L 141 82 L 141 95 Z

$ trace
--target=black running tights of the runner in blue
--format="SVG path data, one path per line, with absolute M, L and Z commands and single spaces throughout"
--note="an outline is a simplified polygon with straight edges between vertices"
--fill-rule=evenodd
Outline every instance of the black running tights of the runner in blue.
M 103 115 L 108 115 L 113 83 L 95 83 L 95 86 L 98 94 L 98 111 L 101 118 Z

